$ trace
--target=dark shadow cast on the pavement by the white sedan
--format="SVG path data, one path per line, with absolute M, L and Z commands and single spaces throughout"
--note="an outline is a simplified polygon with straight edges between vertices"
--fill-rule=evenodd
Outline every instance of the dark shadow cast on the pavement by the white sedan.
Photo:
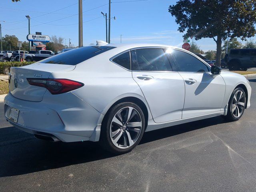
M 140 145 L 226 122 L 221 117 L 214 117 L 146 132 Z M 97 142 L 45 142 L 14 127 L 0 129 L 0 154 L 0 177 L 61 168 L 115 156 L 101 149 Z

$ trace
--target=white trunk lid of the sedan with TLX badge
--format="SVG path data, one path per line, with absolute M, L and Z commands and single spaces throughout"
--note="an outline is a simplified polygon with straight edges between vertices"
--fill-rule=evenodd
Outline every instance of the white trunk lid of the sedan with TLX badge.
M 46 88 L 33 86 L 27 78 L 49 78 L 53 72 L 72 71 L 75 65 L 36 63 L 10 69 L 10 93 L 19 99 L 40 102 Z

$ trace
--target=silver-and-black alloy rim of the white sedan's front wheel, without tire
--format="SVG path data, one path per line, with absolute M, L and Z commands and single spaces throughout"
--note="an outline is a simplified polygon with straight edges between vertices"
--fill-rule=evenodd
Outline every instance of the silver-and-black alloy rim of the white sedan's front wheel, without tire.
M 234 97 L 232 99 L 232 105 L 231 105 L 231 112 L 234 115 L 234 117 L 239 118 L 243 114 L 245 101 L 246 101 L 246 98 L 244 96 L 244 93 L 238 90 L 234 94 Z

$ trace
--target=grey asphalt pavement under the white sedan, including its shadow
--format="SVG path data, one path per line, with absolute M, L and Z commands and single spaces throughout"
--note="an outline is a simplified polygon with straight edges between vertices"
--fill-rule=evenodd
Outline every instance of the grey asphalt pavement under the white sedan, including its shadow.
M 0 110 L 0 191 L 255 191 L 256 76 L 248 79 L 251 107 L 239 121 L 215 117 L 148 132 L 120 156 L 92 142 L 37 140 Z

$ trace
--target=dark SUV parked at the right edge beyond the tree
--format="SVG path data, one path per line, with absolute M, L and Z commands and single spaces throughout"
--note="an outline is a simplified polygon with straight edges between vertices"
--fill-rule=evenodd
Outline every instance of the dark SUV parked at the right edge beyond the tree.
M 256 49 L 231 49 L 227 61 L 230 71 L 256 67 Z

